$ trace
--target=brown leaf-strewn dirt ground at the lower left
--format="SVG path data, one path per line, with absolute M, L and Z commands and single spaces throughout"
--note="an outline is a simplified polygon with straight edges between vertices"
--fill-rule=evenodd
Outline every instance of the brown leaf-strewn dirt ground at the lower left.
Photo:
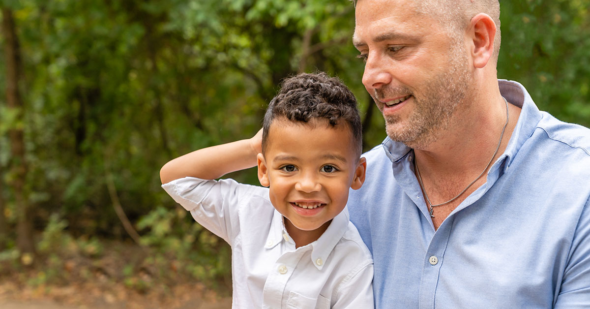
M 27 267 L 0 258 L 0 309 L 231 308 L 231 278 L 199 281 L 181 267 L 190 261 L 154 262 L 130 243 L 103 246 L 94 256 L 54 249 Z

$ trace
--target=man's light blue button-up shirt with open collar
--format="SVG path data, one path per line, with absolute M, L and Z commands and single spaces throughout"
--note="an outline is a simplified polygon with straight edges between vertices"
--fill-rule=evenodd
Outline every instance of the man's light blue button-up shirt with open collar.
M 590 308 L 590 130 L 522 107 L 506 151 L 434 230 L 414 152 L 386 138 L 365 154 L 350 220 L 373 253 L 376 308 Z

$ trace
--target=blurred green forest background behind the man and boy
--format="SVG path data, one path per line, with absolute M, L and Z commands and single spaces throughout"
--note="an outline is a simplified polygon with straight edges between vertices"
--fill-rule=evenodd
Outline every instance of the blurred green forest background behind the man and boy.
M 158 171 L 254 135 L 290 74 L 339 76 L 358 97 L 365 150 L 385 137 L 361 83 L 349 1 L 0 5 L 0 281 L 46 287 L 103 276 L 143 292 L 179 280 L 227 288 L 227 244 L 166 195 Z M 585 126 L 589 8 L 501 1 L 498 65 L 540 109 Z M 255 170 L 230 177 L 257 184 Z

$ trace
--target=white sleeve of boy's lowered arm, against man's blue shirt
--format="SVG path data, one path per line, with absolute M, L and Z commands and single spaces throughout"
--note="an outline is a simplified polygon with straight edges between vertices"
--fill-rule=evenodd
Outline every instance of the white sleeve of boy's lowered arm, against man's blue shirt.
M 333 309 L 373 309 L 373 262 L 368 261 L 358 266 L 356 274 L 345 282 L 338 291 L 338 299 Z

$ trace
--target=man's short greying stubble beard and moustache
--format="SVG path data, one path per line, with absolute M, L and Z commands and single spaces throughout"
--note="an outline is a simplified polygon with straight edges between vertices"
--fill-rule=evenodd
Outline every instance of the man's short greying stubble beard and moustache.
M 392 97 L 388 94 L 411 94 L 414 99 L 413 110 L 406 123 L 400 123 L 402 119 L 398 115 L 384 116 L 385 131 L 389 138 L 410 148 L 425 149 L 445 134 L 451 116 L 466 97 L 470 84 L 467 55 L 459 48 L 460 45 L 454 46 L 447 68 L 419 85 L 419 93 L 405 86 L 375 89 L 373 98 Z

